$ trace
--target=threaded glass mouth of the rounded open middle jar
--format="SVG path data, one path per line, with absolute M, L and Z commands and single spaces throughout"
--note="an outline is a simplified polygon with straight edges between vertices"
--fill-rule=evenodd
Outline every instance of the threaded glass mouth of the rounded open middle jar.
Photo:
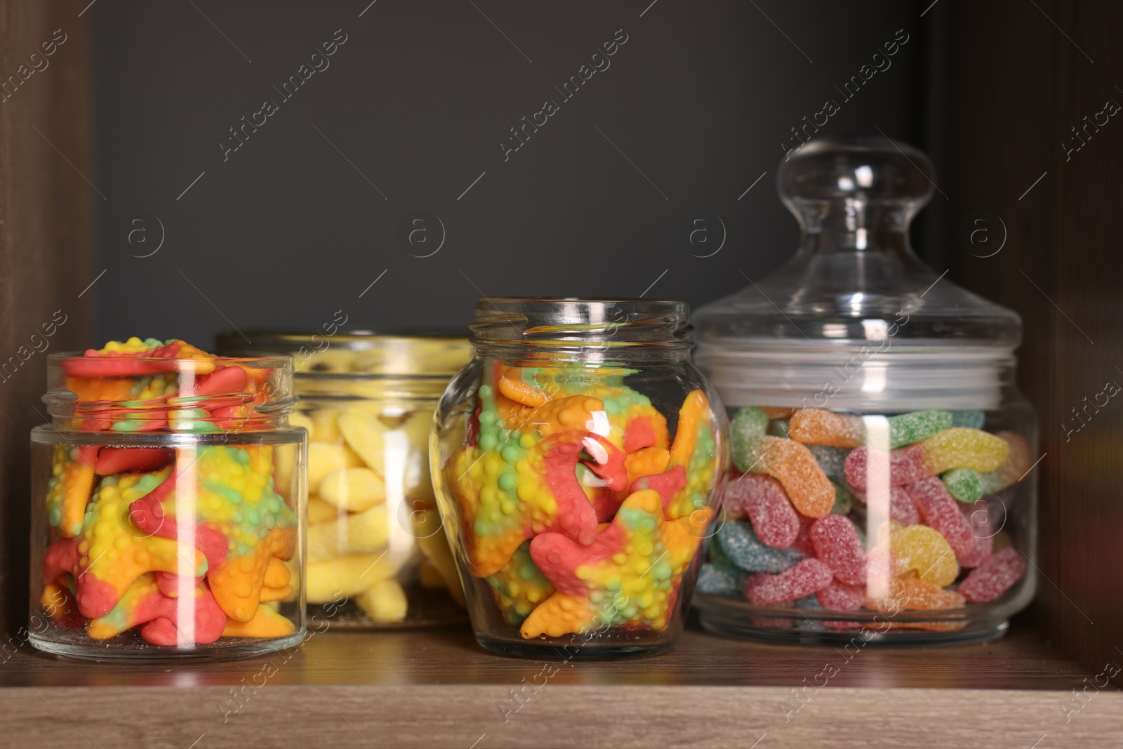
M 574 348 L 691 347 L 690 304 L 647 299 L 476 300 L 472 342 Z

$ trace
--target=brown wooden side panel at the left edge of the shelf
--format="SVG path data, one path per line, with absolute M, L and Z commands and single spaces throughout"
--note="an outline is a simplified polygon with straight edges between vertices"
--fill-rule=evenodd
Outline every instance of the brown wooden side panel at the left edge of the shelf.
M 45 420 L 36 409 L 46 355 L 86 344 L 93 292 L 80 294 L 97 275 L 86 262 L 90 201 L 102 198 L 86 182 L 85 4 L 0 0 L 0 628 L 9 631 L 27 619 L 27 435 Z

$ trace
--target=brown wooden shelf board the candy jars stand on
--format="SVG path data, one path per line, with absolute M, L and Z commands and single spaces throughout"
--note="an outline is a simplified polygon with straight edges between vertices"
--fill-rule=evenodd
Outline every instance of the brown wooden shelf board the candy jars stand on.
M 670 652 L 556 667 L 547 678 L 544 663 L 492 656 L 459 629 L 326 631 L 287 660 L 207 665 L 83 663 L 25 645 L 0 667 L 0 745 L 661 749 L 749 747 L 766 733 L 761 749 L 1044 749 L 1119 746 L 1123 714 L 1123 692 L 1097 691 L 1095 674 L 1024 623 L 990 643 L 866 647 L 849 660 L 692 627 Z

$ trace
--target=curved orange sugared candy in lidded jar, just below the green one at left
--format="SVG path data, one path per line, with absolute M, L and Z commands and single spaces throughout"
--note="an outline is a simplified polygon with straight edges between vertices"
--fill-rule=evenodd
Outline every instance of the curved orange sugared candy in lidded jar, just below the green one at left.
M 806 445 L 779 437 L 757 437 L 747 445 L 746 463 L 738 468 L 779 481 L 801 514 L 822 518 L 834 506 L 834 487 Z

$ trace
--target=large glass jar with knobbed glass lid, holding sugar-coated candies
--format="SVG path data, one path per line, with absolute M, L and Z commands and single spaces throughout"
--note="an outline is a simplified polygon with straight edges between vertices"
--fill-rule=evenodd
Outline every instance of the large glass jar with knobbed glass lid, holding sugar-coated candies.
M 777 180 L 798 252 L 695 317 L 732 456 L 702 623 L 812 642 L 996 637 L 1034 591 L 1021 321 L 912 253 L 934 185 L 919 150 L 810 141 Z

